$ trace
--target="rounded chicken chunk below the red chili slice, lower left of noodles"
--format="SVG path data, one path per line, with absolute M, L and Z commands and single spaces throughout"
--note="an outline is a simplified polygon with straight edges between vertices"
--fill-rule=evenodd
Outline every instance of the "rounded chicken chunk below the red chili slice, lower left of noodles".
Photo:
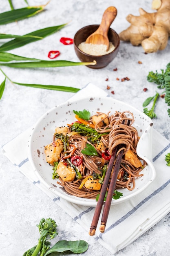
M 61 161 L 57 166 L 56 172 L 58 173 L 60 178 L 62 178 L 62 180 L 64 180 L 65 182 L 73 181 L 76 176 L 74 168 L 72 166 L 66 166 Z

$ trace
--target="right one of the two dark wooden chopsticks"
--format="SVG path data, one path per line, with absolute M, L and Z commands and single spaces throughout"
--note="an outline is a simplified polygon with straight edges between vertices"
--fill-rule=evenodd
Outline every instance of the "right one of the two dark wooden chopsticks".
M 108 219 L 108 213 L 109 213 L 109 210 L 110 210 L 110 206 L 111 206 L 111 202 L 112 202 L 112 198 L 113 198 L 113 193 L 114 193 L 114 190 L 115 190 L 117 175 L 119 173 L 119 168 L 120 168 L 123 153 L 124 153 L 124 150 L 121 150 L 120 153 L 118 154 L 116 162 L 115 162 L 115 168 L 114 168 L 114 171 L 113 171 L 113 175 L 111 177 L 106 202 L 104 204 L 104 210 L 103 210 L 103 214 L 102 214 L 101 225 L 99 227 L 99 231 L 101 233 L 103 233 L 105 231 L 106 222 L 107 222 L 107 219 Z

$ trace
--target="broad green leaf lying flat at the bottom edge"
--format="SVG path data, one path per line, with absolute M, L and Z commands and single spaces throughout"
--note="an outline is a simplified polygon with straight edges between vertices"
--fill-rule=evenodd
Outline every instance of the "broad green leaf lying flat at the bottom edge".
M 88 243 L 84 240 L 77 241 L 66 241 L 60 240 L 58 241 L 51 249 L 49 249 L 44 256 L 47 256 L 53 252 L 66 252 L 71 251 L 75 254 L 86 252 L 88 249 Z

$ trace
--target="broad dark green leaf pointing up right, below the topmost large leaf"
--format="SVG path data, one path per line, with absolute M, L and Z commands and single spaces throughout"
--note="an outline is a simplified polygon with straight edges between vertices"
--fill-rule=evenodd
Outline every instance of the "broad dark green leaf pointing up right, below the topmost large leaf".
M 29 34 L 25 34 L 24 36 L 33 36 L 33 37 L 15 38 L 15 39 L 1 45 L 0 46 L 0 51 L 6 52 L 6 51 L 9 51 L 11 49 L 22 47 L 26 44 L 29 44 L 29 43 L 35 42 L 37 40 L 40 40 L 42 38 L 45 38 L 46 36 L 49 36 L 49 35 L 57 32 L 58 30 L 62 29 L 65 25 L 66 24 L 62 24 L 62 25 L 55 26 L 55 27 L 46 27 L 44 29 L 39 29 L 39 30 L 33 31 Z M 36 38 L 35 38 L 35 36 L 36 36 Z

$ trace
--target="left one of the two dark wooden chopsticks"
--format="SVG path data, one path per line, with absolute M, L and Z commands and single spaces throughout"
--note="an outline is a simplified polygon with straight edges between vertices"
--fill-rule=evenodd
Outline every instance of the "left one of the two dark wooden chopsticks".
M 98 223 L 98 220 L 99 220 L 99 216 L 100 216 L 100 213 L 101 213 L 101 210 L 102 210 L 104 198 L 105 198 L 105 195 L 106 195 L 106 189 L 107 189 L 108 182 L 109 182 L 109 179 L 110 179 L 110 174 L 111 174 L 113 164 L 114 164 L 114 161 L 115 161 L 116 152 L 117 152 L 117 147 L 113 150 L 113 154 L 111 155 L 111 158 L 110 158 L 110 161 L 109 161 L 109 164 L 108 164 L 108 169 L 106 171 L 106 176 L 104 177 L 104 182 L 103 182 L 103 185 L 102 185 L 102 189 L 100 191 L 99 200 L 97 202 L 97 206 L 95 208 L 95 213 L 94 213 L 94 216 L 93 216 L 93 220 L 91 222 L 90 231 L 88 233 L 90 236 L 95 235 L 97 223 Z

